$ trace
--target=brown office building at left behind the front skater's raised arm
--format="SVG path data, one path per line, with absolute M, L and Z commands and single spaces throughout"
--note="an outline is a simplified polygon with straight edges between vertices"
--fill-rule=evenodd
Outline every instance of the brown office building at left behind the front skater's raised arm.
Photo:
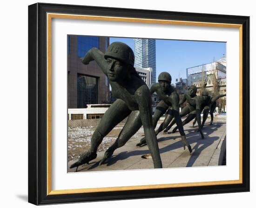
M 81 58 L 90 48 L 105 52 L 107 37 L 67 36 L 68 108 L 87 108 L 89 104 L 109 102 L 109 83 L 95 61 L 84 65 Z

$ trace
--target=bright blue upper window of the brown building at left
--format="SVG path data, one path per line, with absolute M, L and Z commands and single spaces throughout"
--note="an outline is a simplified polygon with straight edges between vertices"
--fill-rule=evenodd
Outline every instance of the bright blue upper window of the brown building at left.
M 84 57 L 85 54 L 93 47 L 99 48 L 100 39 L 91 36 L 78 36 L 77 37 L 77 56 Z

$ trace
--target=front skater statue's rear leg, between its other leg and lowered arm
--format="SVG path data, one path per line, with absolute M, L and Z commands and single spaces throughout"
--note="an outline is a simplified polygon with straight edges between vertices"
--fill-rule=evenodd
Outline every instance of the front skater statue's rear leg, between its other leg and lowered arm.
M 108 148 L 99 164 L 101 165 L 106 159 L 111 157 L 117 148 L 125 145 L 125 143 L 127 143 L 127 141 L 141 128 L 141 125 L 140 111 L 132 111 L 115 143 Z

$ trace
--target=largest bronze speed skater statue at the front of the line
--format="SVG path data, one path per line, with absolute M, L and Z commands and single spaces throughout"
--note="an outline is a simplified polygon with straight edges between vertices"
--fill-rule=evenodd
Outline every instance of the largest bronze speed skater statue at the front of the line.
M 82 63 L 87 65 L 93 60 L 101 67 L 103 73 L 108 76 L 113 95 L 117 100 L 101 118 L 101 122 L 91 138 L 90 150 L 82 153 L 78 162 L 72 164 L 70 168 L 78 167 L 95 159 L 98 146 L 104 136 L 125 117 L 128 117 L 128 120 L 121 130 L 120 136 L 134 132 L 134 123 L 142 123 L 154 168 L 162 168 L 153 127 L 151 95 L 148 86 L 135 71 L 134 52 L 128 45 L 114 42 L 108 46 L 105 54 L 97 48 L 90 49 L 83 58 Z

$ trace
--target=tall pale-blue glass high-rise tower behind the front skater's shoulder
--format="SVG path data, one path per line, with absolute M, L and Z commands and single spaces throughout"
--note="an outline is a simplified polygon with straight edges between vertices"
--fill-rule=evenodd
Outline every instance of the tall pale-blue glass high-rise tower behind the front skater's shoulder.
M 155 39 L 134 39 L 135 67 L 153 69 L 151 83 L 156 81 Z

